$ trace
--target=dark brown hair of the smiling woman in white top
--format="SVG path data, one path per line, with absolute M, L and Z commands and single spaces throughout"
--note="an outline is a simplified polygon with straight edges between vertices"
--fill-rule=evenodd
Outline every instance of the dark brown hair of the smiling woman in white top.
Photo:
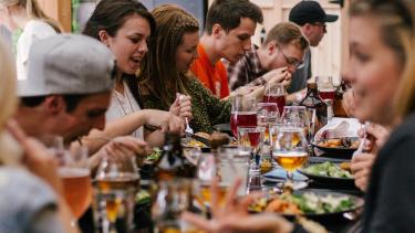
M 100 40 L 98 32 L 105 30 L 115 36 L 124 25 L 126 18 L 138 14 L 149 23 L 152 32 L 156 30 L 156 22 L 147 8 L 136 0 L 102 0 L 87 20 L 83 34 Z

